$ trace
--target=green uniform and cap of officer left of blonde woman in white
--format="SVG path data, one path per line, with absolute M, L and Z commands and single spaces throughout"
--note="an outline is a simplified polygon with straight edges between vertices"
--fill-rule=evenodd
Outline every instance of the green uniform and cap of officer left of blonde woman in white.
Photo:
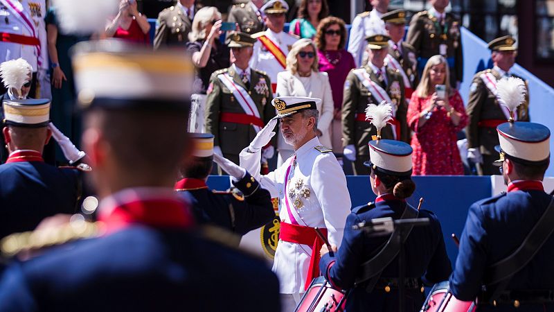
M 228 37 L 229 47 L 253 46 L 256 39 L 246 33 L 231 33 Z M 240 70 L 240 69 L 239 69 Z M 214 146 L 220 146 L 223 156 L 235 164 L 239 164 L 238 155 L 256 137 L 251 120 L 251 114 L 242 108 L 235 94 L 220 80 L 220 76 L 228 75 L 235 85 L 248 92 L 244 96 L 251 97 L 260 114 L 263 124 L 267 124 L 275 115 L 275 109 L 271 105 L 273 94 L 271 92 L 271 80 L 265 71 L 247 69 L 250 73 L 248 83 L 245 83 L 236 67 L 215 71 L 210 78 L 210 85 L 206 98 L 206 133 L 214 135 Z M 274 140 L 272 142 L 274 144 Z

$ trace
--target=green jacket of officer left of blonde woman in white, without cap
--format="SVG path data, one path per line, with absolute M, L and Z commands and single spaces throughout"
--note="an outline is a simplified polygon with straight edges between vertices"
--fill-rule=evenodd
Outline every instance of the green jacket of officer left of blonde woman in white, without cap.
M 256 131 L 251 125 L 220 122 L 220 113 L 222 112 L 246 114 L 231 90 L 225 87 L 220 78 L 217 78 L 222 73 L 229 73 L 235 84 L 247 89 L 232 66 L 228 69 L 215 71 L 212 74 L 206 92 L 208 94 L 206 98 L 206 133 L 214 135 L 214 146 L 220 146 L 226 158 L 238 162 L 238 154 L 256 137 Z M 250 88 L 248 92 L 258 107 L 262 121 L 267 124 L 276 115 L 276 112 L 271 105 L 273 99 L 271 80 L 269 80 L 265 71 L 250 69 Z M 274 140 L 271 144 L 274 144 Z

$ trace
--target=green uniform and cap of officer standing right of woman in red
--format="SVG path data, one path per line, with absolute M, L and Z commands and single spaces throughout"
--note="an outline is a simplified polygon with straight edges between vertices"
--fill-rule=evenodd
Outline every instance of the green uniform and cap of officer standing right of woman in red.
M 505 36 L 492 40 L 489 47 L 492 51 L 499 51 L 502 47 L 506 50 L 506 46 L 511 46 L 512 50 L 515 50 L 514 43 L 515 40 L 512 37 Z M 492 94 L 485 85 L 483 78 L 481 78 L 483 73 L 492 73 L 496 80 L 502 78 L 497 67 L 475 74 L 470 87 L 470 99 L 465 110 L 469 117 L 465 134 L 467 148 L 479 148 L 479 152 L 483 155 L 483 164 L 481 165 L 483 175 L 495 175 L 498 174 L 498 166 L 494 166 L 493 162 L 499 158 L 499 153 L 494 150 L 494 146 L 499 145 L 496 128 L 499 123 L 505 122 L 508 118 L 504 114 L 497 97 Z M 514 74 L 509 76 L 521 78 Z M 518 107 L 518 121 L 529 121 L 528 103 L 529 94 L 527 92 L 525 103 Z

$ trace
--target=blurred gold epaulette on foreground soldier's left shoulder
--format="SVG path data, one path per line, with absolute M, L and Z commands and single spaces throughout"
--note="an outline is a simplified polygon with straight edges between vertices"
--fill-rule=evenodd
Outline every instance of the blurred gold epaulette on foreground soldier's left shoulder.
M 73 220 L 57 227 L 10 234 L 0 241 L 0 250 L 4 257 L 9 258 L 25 250 L 39 250 L 78 239 L 89 239 L 104 233 L 105 225 L 102 222 Z

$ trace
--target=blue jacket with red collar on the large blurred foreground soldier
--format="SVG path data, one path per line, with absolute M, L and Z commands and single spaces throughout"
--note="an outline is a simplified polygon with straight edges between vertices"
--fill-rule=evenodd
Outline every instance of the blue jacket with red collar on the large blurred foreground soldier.
M 100 214 L 110 208 L 103 202 Z M 194 227 L 164 225 L 163 205 L 141 211 L 144 221 L 116 231 L 106 222 L 105 236 L 12 264 L 0 281 L 0 311 L 280 311 L 278 280 L 264 261 Z M 125 211 L 134 209 L 112 220 Z

